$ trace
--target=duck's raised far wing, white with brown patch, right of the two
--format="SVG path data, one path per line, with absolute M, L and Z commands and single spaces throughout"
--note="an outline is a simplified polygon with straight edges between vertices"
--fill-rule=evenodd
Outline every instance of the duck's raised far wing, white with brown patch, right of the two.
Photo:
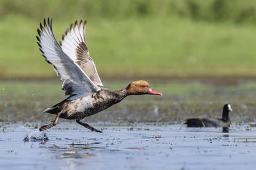
M 79 24 L 76 21 L 74 26 L 71 24 L 63 34 L 60 46 L 63 52 L 81 67 L 93 83 L 103 86 L 85 43 L 85 29 L 86 21 L 81 20 Z

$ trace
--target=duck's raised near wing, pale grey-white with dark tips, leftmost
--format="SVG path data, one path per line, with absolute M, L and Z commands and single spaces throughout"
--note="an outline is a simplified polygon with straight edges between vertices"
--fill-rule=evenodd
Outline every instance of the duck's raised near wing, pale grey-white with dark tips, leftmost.
M 100 87 L 95 85 L 83 70 L 61 50 L 52 33 L 52 19 L 50 21 L 48 18 L 47 23 L 44 20 L 44 26 L 40 23 L 40 29 L 37 29 L 37 32 L 39 36 L 36 38 L 40 51 L 63 80 L 62 89 L 65 90 L 66 95 L 70 95 L 69 100 L 100 90 Z

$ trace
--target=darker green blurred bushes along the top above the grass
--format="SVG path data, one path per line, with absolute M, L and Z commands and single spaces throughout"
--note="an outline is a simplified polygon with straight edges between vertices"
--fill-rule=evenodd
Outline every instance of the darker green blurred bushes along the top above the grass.
M 256 1 L 253 0 L 1 0 L 0 16 L 19 14 L 34 20 L 54 16 L 58 20 L 77 17 L 184 17 L 193 20 L 236 23 L 256 22 Z

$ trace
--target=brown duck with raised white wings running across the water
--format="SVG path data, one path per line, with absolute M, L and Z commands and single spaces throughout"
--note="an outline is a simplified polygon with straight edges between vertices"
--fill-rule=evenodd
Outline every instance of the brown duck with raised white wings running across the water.
M 43 113 L 56 115 L 54 120 L 40 127 L 45 131 L 58 124 L 60 118 L 76 122 L 95 132 L 102 132 L 89 124 L 81 122 L 113 104 L 119 103 L 131 95 L 162 94 L 150 88 L 147 81 L 138 80 L 129 83 L 122 90 L 111 90 L 102 84 L 97 69 L 86 45 L 86 20 L 74 22 L 62 35 L 60 43 L 52 31 L 52 18 L 40 22 L 36 36 L 39 50 L 45 60 L 51 64 L 57 76 L 63 81 L 62 90 L 68 97 Z

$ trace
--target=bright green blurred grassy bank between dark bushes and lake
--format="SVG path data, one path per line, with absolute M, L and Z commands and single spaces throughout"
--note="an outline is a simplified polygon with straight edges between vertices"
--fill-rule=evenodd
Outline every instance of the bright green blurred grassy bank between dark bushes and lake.
M 80 19 L 80 18 L 77 18 Z M 0 78 L 51 78 L 36 45 L 40 20 L 8 15 L 0 24 Z M 73 19 L 54 19 L 56 39 Z M 87 43 L 101 76 L 256 76 L 253 25 L 180 17 L 94 18 Z

